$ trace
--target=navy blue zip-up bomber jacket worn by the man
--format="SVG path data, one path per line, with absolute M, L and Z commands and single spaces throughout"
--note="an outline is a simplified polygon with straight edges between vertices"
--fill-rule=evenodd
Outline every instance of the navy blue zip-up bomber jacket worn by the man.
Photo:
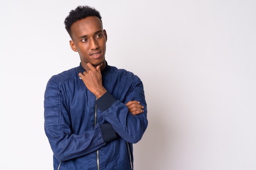
M 54 153 L 54 170 L 131 170 L 132 144 L 146 127 L 146 100 L 138 76 L 106 65 L 107 92 L 97 99 L 79 79 L 81 66 L 49 79 L 44 100 L 45 133 Z M 125 105 L 137 100 L 144 113 L 133 116 Z

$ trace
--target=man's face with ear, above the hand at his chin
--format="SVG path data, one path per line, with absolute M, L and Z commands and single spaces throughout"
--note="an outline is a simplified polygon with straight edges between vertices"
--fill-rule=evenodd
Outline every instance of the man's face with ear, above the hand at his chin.
M 96 16 L 86 17 L 72 24 L 72 50 L 78 52 L 85 70 L 87 63 L 95 67 L 101 63 L 105 66 L 107 33 L 103 30 L 101 20 Z

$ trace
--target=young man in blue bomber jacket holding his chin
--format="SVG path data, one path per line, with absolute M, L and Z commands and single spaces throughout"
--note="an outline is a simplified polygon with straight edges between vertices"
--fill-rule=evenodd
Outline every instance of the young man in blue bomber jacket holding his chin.
M 107 33 L 97 10 L 77 7 L 65 28 L 81 63 L 52 76 L 45 90 L 54 170 L 131 170 L 132 143 L 148 125 L 143 84 L 105 61 Z

